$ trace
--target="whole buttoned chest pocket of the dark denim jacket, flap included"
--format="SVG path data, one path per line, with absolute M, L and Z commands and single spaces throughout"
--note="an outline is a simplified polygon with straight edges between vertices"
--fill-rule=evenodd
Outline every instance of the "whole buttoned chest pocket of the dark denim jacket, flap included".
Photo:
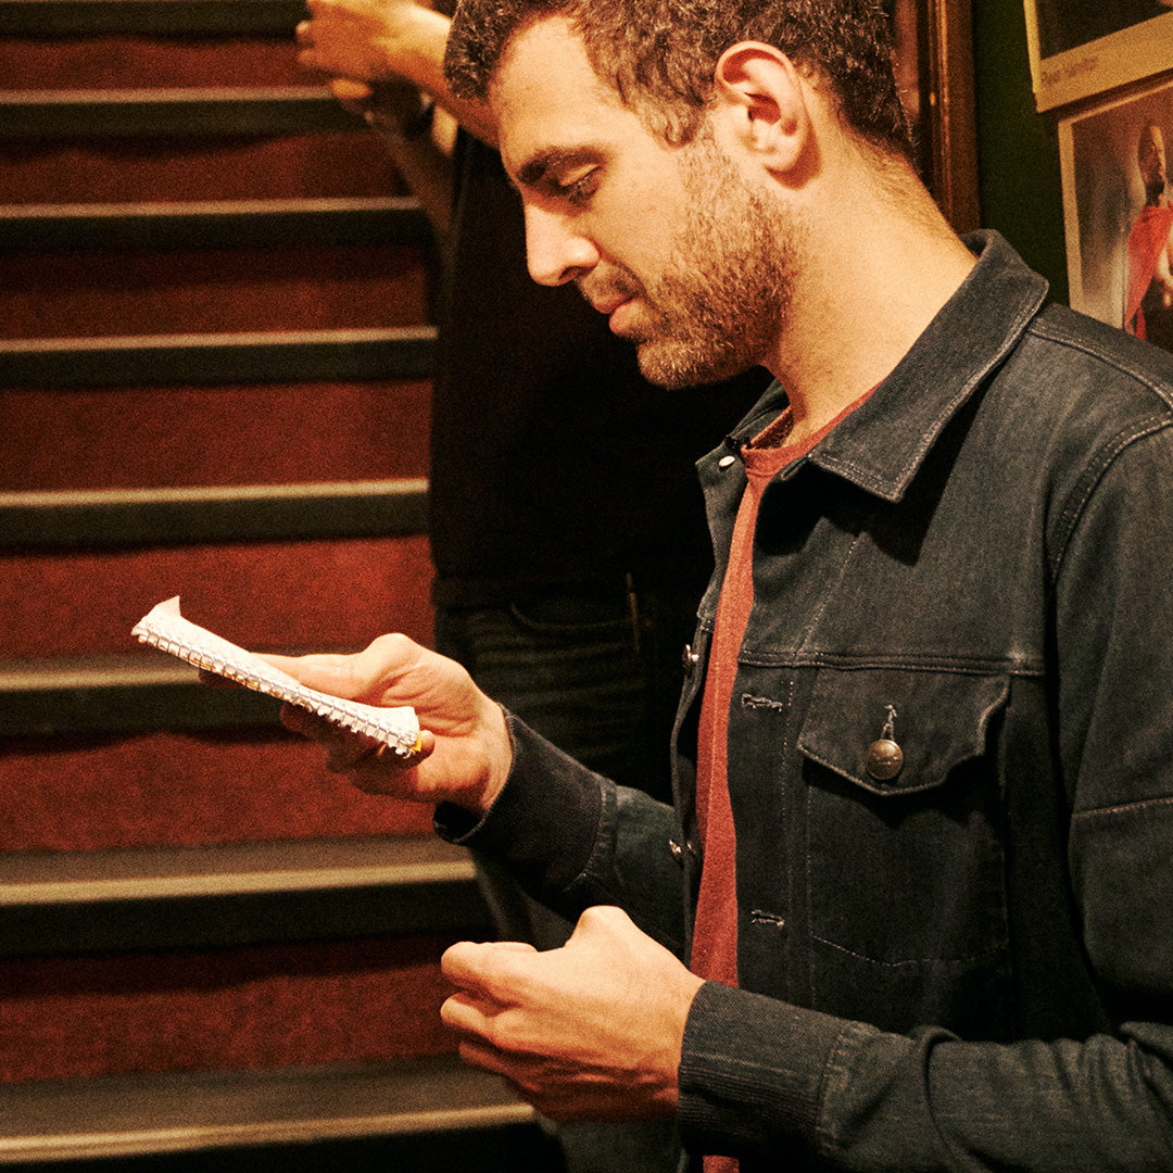
M 989 1026 L 1009 979 L 1005 676 L 822 669 L 802 721 L 812 991 L 877 1025 Z M 861 991 L 875 1006 L 859 1006 Z

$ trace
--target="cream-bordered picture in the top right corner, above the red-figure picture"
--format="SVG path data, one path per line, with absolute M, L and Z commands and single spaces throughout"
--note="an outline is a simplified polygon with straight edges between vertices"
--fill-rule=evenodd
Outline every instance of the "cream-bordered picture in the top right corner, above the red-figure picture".
M 1023 0 L 1039 110 L 1173 69 L 1173 0 Z

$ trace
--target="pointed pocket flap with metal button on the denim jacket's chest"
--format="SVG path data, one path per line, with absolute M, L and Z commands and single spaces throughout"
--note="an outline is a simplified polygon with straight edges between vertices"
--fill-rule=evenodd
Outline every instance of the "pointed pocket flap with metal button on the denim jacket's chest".
M 1005 676 L 821 669 L 799 750 L 873 794 L 931 789 L 984 752 L 1009 689 Z

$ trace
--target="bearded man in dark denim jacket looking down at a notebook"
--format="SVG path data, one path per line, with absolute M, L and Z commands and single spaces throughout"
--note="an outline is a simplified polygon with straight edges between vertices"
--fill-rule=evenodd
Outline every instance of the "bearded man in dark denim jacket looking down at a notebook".
M 952 233 L 873 0 L 462 0 L 446 68 L 537 282 L 777 377 L 698 465 L 673 806 L 402 637 L 279 660 L 414 705 L 406 768 L 286 721 L 578 917 L 448 951 L 461 1053 L 706 1171 L 1173 1168 L 1173 358 Z

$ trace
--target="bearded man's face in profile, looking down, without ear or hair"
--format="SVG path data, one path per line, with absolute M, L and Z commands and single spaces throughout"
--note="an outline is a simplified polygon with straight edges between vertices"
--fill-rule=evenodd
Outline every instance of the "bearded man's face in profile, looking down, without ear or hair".
M 685 387 L 768 364 L 793 228 L 711 137 L 671 147 L 653 135 L 561 18 L 514 39 L 489 96 L 536 282 L 576 282 L 636 344 L 653 382 Z

